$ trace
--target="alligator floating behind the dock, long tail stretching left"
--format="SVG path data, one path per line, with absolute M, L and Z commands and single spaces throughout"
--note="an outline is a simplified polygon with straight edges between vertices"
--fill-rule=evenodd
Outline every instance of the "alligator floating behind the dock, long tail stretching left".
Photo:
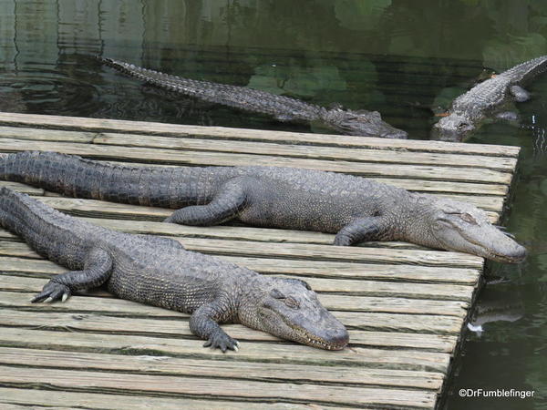
M 278 121 L 315 122 L 342 134 L 364 137 L 408 137 L 407 132 L 382 121 L 382 117 L 377 111 L 364 109 L 354 111 L 344 109 L 340 105 L 334 105 L 333 108 L 327 109 L 296 98 L 277 96 L 253 88 L 171 76 L 111 58 L 98 56 L 98 59 L 129 77 L 136 77 L 153 86 L 215 104 L 266 114 L 273 116 Z

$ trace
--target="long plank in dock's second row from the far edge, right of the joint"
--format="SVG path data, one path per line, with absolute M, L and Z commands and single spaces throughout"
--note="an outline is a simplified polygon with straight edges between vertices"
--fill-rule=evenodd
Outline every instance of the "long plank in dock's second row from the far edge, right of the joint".
M 16 137 L 14 137 L 16 138 Z M 443 165 L 452 167 L 497 169 L 512 172 L 517 159 L 447 153 L 386 151 L 380 149 L 316 147 L 313 145 L 277 144 L 272 142 L 223 141 L 201 138 L 169 138 L 150 135 L 98 133 L 93 144 L 151 149 L 202 150 L 242 154 L 264 154 L 279 157 L 330 159 L 388 164 Z

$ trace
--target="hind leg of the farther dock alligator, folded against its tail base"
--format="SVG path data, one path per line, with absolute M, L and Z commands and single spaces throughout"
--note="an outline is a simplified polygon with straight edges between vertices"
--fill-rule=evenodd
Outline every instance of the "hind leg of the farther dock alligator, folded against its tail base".
M 245 207 L 247 196 L 244 182 L 243 178 L 229 180 L 207 205 L 192 205 L 175 210 L 165 222 L 212 226 L 231 220 Z

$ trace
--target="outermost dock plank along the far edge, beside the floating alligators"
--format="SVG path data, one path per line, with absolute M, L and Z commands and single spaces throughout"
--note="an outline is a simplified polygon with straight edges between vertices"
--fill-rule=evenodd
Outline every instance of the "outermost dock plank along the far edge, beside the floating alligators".
M 374 149 L 424 150 L 428 152 L 452 152 L 480 154 L 485 156 L 518 157 L 520 148 L 501 145 L 448 143 L 443 141 L 421 141 L 408 139 L 368 138 L 341 135 L 325 135 L 258 129 L 184 126 L 157 122 L 126 121 L 103 118 L 77 118 L 15 113 L 0 113 L 0 124 L 31 126 L 40 128 L 78 128 L 85 131 L 121 131 L 150 135 L 207 136 L 232 139 L 302 142 L 316 145 L 340 147 L 362 147 Z

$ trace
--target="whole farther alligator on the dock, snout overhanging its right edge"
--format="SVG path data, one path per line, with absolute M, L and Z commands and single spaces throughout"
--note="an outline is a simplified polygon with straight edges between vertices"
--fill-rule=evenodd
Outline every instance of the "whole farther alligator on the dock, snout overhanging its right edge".
M 279 167 L 128 167 L 55 152 L 0 159 L 0 179 L 69 197 L 177 209 L 167 221 L 336 233 L 335 245 L 409 241 L 518 262 L 526 250 L 475 206 L 373 180 Z

